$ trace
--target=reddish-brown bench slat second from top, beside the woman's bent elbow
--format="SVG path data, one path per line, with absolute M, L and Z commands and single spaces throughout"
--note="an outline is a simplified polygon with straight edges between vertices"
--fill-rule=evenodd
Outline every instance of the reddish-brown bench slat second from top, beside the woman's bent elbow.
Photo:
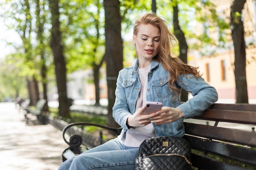
M 240 124 L 256 124 L 255 111 L 236 111 L 236 110 L 213 110 L 208 109 L 203 116 L 194 119 L 204 119 L 210 121 L 223 121 Z

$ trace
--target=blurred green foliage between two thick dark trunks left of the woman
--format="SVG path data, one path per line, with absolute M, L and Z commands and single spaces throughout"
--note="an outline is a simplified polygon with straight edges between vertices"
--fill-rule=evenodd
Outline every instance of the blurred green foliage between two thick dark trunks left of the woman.
M 60 11 L 68 73 L 99 64 L 105 51 L 103 2 L 63 0 Z

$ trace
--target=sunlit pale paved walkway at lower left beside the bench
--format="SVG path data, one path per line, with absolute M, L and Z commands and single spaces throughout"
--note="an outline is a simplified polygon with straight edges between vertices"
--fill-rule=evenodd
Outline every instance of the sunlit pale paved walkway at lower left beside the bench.
M 28 126 L 13 103 L 0 103 L 0 170 L 57 170 L 67 144 L 52 125 Z

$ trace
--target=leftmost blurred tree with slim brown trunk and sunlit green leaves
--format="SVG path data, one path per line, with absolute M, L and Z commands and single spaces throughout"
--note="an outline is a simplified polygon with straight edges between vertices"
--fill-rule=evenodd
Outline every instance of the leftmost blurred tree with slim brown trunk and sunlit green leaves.
M 24 67 L 27 66 L 27 87 L 29 93 L 29 99 L 31 101 L 31 105 L 35 105 L 37 100 L 39 99 L 39 90 L 38 90 L 38 80 L 36 73 L 36 57 L 34 53 L 34 44 L 32 43 L 32 33 L 34 32 L 34 22 L 31 14 L 31 4 L 33 2 L 29 2 L 29 0 L 24 1 L 10 1 L 10 8 L 13 9 L 11 11 L 6 11 L 7 20 L 14 20 L 14 24 L 10 24 L 9 27 L 15 27 L 16 32 L 20 35 L 20 39 L 22 40 L 22 45 L 16 47 L 17 51 L 20 54 L 17 55 L 9 55 L 7 60 L 11 63 L 16 63 L 16 61 L 20 61 L 19 57 L 22 57 L 22 64 L 18 62 L 16 66 Z M 18 15 L 17 15 L 18 14 Z M 24 69 L 23 69 L 24 70 Z

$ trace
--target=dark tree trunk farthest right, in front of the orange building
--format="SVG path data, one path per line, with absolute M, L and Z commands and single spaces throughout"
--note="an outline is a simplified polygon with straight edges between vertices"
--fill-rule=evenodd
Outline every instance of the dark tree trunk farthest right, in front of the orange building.
M 248 103 L 246 81 L 246 52 L 241 13 L 246 0 L 234 0 L 230 10 L 230 28 L 235 51 L 236 103 Z

